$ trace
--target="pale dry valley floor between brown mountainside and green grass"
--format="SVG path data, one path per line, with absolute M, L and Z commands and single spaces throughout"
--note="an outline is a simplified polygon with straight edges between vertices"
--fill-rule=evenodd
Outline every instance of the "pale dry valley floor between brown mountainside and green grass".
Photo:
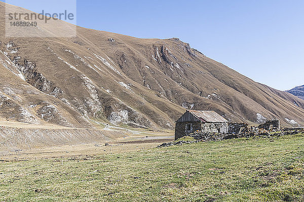
M 62 156 L 62 150 L 70 150 L 74 155 L 95 153 L 96 147 L 105 143 L 115 143 L 118 146 L 122 145 L 122 142 L 159 143 L 172 139 L 174 133 L 170 130 L 159 131 L 109 124 L 98 124 L 96 128 L 69 128 L 0 120 L 0 160 L 37 158 L 37 154 L 40 154 L 39 157 L 58 157 Z M 118 150 L 122 148 L 128 150 L 124 146 L 120 146 Z

